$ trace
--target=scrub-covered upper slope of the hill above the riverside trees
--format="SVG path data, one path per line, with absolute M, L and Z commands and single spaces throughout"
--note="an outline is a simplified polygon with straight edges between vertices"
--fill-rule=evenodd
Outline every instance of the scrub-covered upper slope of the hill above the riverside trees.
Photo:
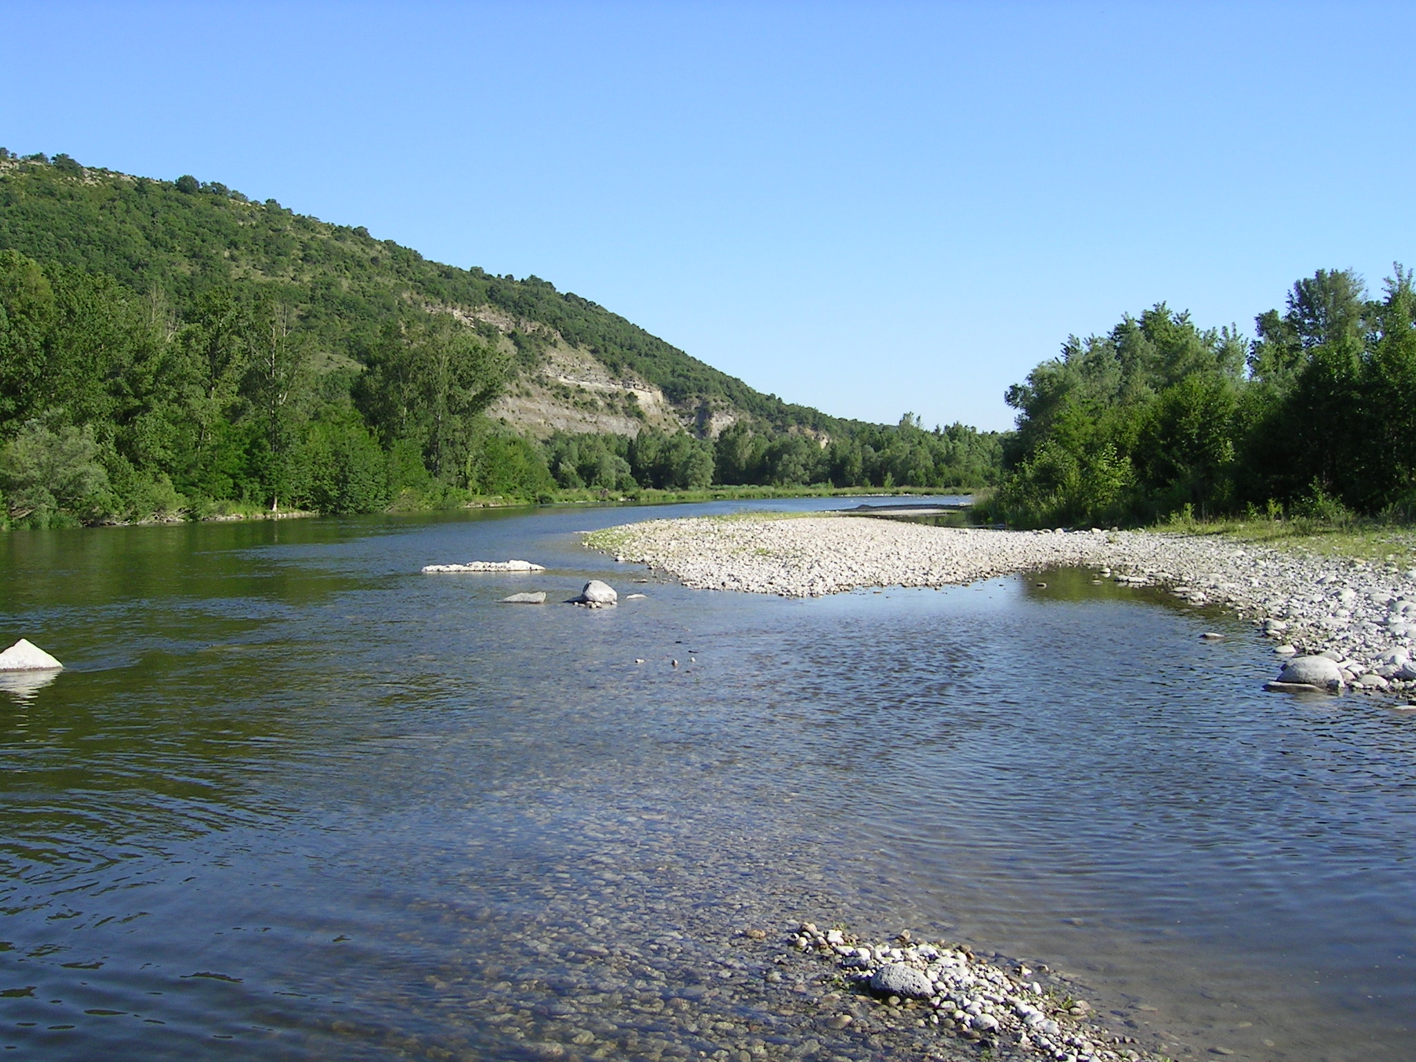
M 605 307 L 535 276 L 523 280 L 430 262 L 362 227 L 331 225 L 253 202 L 193 177 L 132 177 L 68 156 L 0 160 L 0 249 L 106 273 L 177 303 L 259 280 L 300 307 L 327 350 L 350 351 L 389 317 L 419 309 L 500 312 L 525 370 L 552 331 L 612 372 L 660 388 L 680 408 L 707 401 L 776 429 L 826 429 L 831 418 L 763 395 Z M 542 327 L 537 327 L 542 326 Z

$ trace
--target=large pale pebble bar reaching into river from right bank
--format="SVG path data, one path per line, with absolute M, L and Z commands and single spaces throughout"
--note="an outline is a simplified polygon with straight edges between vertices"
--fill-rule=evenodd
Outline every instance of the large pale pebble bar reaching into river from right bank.
M 993 531 L 817 515 L 651 520 L 586 544 L 687 586 L 814 598 L 949 586 L 1048 568 L 1160 586 L 1235 612 L 1277 657 L 1327 656 L 1342 684 L 1416 691 L 1416 568 L 1151 531 Z

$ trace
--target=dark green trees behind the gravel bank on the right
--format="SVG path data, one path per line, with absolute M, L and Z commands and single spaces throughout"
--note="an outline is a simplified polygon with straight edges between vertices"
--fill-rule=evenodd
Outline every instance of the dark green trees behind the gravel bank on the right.
M 1400 266 L 1298 280 L 1257 338 L 1160 304 L 1070 337 L 1007 401 L 1018 430 L 990 503 L 1011 524 L 1416 510 L 1416 293 Z

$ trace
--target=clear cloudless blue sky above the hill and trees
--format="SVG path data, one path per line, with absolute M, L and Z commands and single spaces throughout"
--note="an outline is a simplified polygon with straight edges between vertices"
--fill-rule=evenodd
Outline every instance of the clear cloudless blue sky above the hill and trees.
M 1069 333 L 1416 265 L 1416 4 L 0 3 L 0 144 L 535 273 L 762 391 L 1007 428 Z

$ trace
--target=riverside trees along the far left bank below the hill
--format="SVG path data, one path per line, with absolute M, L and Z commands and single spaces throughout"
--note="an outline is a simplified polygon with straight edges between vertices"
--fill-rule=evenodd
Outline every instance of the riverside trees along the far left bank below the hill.
M 292 295 L 248 282 L 178 300 L 0 251 L 4 520 L 371 513 L 579 487 L 944 487 L 998 466 L 995 435 L 909 416 L 834 438 L 739 421 L 716 440 L 646 428 L 537 442 L 487 416 L 515 357 L 466 321 L 404 307 L 330 351 Z

